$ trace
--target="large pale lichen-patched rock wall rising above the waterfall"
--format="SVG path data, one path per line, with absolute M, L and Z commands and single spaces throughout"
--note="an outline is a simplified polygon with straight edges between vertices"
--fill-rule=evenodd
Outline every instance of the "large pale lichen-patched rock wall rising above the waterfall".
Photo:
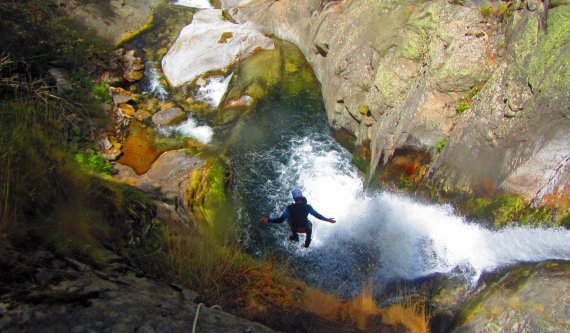
M 503 5 L 259 0 L 232 13 L 299 46 L 330 125 L 370 144 L 370 178 L 400 150 L 428 151 L 424 182 L 539 203 L 570 181 L 570 5 Z

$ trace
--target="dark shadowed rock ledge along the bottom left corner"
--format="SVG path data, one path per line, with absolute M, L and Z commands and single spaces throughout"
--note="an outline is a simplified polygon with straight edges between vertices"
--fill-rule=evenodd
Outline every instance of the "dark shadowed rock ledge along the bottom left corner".
M 191 332 L 198 317 L 197 332 L 274 332 L 221 310 L 198 309 L 193 291 L 144 277 L 111 256 L 101 269 L 46 251 L 18 258 L 27 265 L 12 273 L 24 278 L 2 286 L 10 291 L 0 299 L 0 331 Z

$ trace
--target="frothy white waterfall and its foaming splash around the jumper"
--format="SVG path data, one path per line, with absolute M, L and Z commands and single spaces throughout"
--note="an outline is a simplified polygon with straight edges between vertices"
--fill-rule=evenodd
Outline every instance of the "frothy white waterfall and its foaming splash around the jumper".
M 373 267 L 365 279 L 380 281 L 413 280 L 433 273 L 461 274 L 476 281 L 482 272 L 514 263 L 570 260 L 568 230 L 491 231 L 456 215 L 448 205 L 419 203 L 388 192 L 365 194 L 348 153 L 311 138 L 292 140 L 290 147 L 288 161 L 276 166 L 280 177 L 271 191 L 283 194 L 273 199 L 273 215 L 291 201 L 290 189 L 300 187 L 315 210 L 338 221 L 330 224 L 313 218 L 308 250 L 283 241 L 292 255 L 320 270 L 314 272 L 320 276 L 316 280 L 326 281 L 335 274 L 354 276 L 363 260 Z M 314 262 L 307 259 L 311 252 L 317 257 Z

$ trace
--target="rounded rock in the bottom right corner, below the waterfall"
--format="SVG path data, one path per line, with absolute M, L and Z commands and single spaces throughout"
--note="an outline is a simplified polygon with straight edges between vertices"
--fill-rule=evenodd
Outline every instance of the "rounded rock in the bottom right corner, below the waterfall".
M 453 332 L 569 332 L 568 265 L 539 266 L 512 269 L 481 290 Z

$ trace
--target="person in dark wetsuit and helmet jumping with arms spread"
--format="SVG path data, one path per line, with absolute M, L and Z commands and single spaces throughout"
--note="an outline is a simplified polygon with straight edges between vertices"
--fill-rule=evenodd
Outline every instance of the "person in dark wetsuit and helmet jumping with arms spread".
M 328 221 L 330 223 L 336 223 L 336 220 L 332 217 L 327 218 L 317 213 L 317 211 L 315 211 L 315 209 L 313 209 L 313 207 L 307 203 L 307 199 L 303 196 L 303 192 L 301 192 L 300 189 L 293 189 L 291 191 L 291 195 L 293 196 L 295 203 L 287 206 L 281 216 L 276 218 L 262 217 L 261 222 L 281 223 L 287 220 L 289 227 L 291 228 L 291 236 L 289 236 L 289 239 L 294 242 L 298 242 L 299 233 L 305 233 L 306 237 L 304 246 L 309 247 L 313 233 L 313 225 L 308 219 L 309 214 L 313 215 L 319 220 Z

